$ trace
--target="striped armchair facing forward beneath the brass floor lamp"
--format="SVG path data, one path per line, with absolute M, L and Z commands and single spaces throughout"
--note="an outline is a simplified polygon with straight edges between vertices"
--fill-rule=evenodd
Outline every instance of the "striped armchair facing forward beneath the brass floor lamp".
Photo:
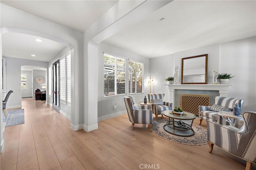
M 173 109 L 173 103 L 164 102 L 163 99 L 164 99 L 163 93 L 148 94 L 148 101 L 153 103 L 152 110 L 153 110 L 153 113 L 156 115 L 156 120 L 158 115 L 163 116 L 163 111 Z

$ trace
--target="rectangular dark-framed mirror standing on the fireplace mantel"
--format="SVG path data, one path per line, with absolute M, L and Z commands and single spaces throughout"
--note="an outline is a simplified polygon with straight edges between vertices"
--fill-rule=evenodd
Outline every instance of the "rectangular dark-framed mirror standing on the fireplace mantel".
M 207 84 L 208 54 L 182 58 L 181 84 Z

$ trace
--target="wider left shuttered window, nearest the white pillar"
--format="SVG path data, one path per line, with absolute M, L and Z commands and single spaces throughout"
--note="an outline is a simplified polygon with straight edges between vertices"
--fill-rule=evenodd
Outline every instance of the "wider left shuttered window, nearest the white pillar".
M 126 94 L 126 59 L 104 54 L 104 96 Z

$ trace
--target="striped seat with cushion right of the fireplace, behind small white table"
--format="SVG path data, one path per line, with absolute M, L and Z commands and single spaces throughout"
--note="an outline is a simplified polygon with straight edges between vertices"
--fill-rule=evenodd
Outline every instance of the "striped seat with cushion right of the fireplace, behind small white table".
M 199 106 L 199 125 L 201 125 L 202 120 L 209 120 L 222 124 L 222 117 L 218 116 L 218 112 L 232 111 L 232 108 L 235 106 L 235 104 L 238 104 L 238 106 L 242 110 L 242 107 L 244 105 L 244 99 L 216 96 L 215 104 L 213 106 Z

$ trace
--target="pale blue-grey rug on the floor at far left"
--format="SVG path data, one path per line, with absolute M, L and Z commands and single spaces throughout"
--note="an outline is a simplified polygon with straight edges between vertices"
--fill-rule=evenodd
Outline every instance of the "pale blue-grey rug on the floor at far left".
M 2 116 L 3 121 L 6 122 L 5 127 L 24 123 L 24 109 L 8 111 L 7 117 L 4 116 L 4 113 Z

